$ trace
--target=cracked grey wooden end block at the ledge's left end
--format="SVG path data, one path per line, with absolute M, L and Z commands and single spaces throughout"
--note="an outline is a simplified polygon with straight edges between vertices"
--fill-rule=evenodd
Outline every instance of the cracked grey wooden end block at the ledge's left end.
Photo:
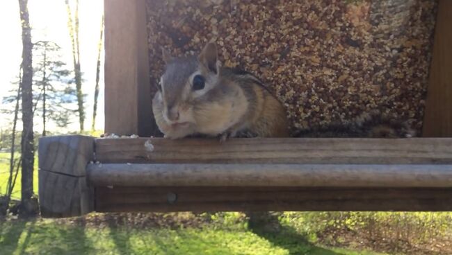
M 39 140 L 39 203 L 43 218 L 82 216 L 94 210 L 94 189 L 86 166 L 94 160 L 94 138 L 42 137 Z

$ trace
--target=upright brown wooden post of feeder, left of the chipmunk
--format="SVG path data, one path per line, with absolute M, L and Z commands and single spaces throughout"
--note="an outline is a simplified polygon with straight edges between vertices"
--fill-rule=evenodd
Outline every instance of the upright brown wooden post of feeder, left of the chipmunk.
M 156 128 L 145 0 L 105 0 L 105 132 L 149 137 Z

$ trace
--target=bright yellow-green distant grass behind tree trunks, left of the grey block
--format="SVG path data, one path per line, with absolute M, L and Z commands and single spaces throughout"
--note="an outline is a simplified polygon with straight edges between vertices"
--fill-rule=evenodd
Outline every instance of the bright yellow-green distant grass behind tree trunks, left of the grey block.
M 15 153 L 15 157 L 19 158 L 19 153 Z M 0 195 L 6 193 L 8 177 L 10 171 L 10 154 L 8 152 L 0 152 Z M 35 168 L 33 173 L 33 191 L 38 193 L 38 157 L 35 158 Z M 19 199 L 21 191 L 20 173 L 17 175 L 17 181 L 14 186 L 12 197 Z

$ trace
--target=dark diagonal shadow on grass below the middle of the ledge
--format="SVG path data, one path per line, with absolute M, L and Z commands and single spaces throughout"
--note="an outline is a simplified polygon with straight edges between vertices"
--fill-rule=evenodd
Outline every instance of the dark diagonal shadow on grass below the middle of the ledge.
M 278 231 L 268 231 L 265 225 L 250 225 L 249 229 L 273 245 L 288 250 L 291 255 L 341 255 L 341 253 L 309 243 L 305 236 L 291 227 L 279 225 Z

